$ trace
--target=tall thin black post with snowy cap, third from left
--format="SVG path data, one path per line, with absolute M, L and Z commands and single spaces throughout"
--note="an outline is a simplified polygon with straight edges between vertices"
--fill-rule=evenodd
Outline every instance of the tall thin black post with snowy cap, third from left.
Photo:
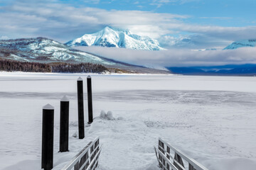
M 78 78 L 78 133 L 79 139 L 85 138 L 85 120 L 83 106 L 82 78 Z

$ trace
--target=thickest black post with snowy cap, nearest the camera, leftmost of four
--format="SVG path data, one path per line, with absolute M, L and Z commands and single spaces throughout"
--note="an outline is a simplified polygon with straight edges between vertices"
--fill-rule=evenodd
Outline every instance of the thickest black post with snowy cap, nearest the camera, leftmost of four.
M 50 104 L 43 106 L 42 128 L 42 169 L 53 169 L 53 122 L 54 108 Z

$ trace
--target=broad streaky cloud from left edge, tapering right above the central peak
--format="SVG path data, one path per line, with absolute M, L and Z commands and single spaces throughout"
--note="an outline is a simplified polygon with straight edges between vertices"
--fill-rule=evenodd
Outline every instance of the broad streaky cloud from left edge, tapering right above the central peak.
M 4 12 L 0 13 L 1 31 L 10 33 L 13 30 L 14 34 L 19 32 L 18 35 L 30 33 L 31 35 L 48 35 L 53 38 L 61 38 L 64 33 L 80 36 L 97 31 L 103 26 L 132 28 L 135 33 L 144 33 L 144 35 L 159 38 L 165 33 L 171 33 L 169 28 L 164 28 L 166 23 L 179 23 L 181 21 L 178 20 L 188 18 L 188 16 L 171 13 L 107 11 L 100 8 L 78 8 L 55 2 L 43 3 L 43 1 L 37 3 L 17 1 L 2 10 Z M 9 30 L 8 27 L 16 29 Z

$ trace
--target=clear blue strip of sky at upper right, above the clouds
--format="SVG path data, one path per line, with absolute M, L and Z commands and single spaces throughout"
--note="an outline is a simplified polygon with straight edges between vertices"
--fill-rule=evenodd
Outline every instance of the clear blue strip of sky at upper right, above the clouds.
M 70 2 L 70 1 L 63 1 Z M 73 1 L 74 2 L 74 1 Z M 256 1 L 246 0 L 163 0 L 163 1 L 77 1 L 94 8 L 107 10 L 138 10 L 155 13 L 176 13 L 188 15 L 188 22 L 217 26 L 255 26 L 256 15 L 253 15 Z

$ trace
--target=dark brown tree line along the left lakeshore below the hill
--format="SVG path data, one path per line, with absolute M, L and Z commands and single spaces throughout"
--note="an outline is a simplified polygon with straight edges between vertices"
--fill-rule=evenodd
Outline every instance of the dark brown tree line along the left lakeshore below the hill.
M 89 62 L 80 64 L 71 63 L 38 63 L 38 62 L 18 62 L 15 60 L 1 60 L 0 71 L 6 72 L 95 72 L 100 73 L 107 71 L 107 68 L 101 64 L 92 64 Z

